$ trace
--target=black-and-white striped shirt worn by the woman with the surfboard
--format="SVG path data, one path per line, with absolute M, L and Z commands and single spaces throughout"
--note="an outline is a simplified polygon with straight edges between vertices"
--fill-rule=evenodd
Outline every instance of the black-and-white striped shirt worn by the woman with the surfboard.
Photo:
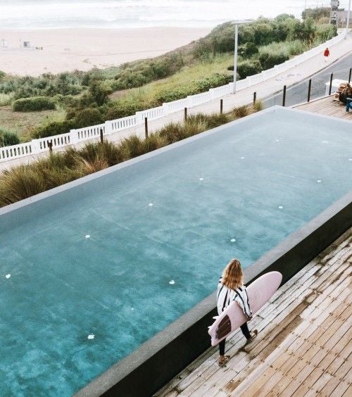
M 217 298 L 219 315 L 225 310 L 225 308 L 227 308 L 228 305 L 230 305 L 232 301 L 236 301 L 239 304 L 245 315 L 252 315 L 252 310 L 249 307 L 246 286 L 244 285 L 239 286 L 237 289 L 230 289 L 222 284 L 222 277 L 220 277 Z

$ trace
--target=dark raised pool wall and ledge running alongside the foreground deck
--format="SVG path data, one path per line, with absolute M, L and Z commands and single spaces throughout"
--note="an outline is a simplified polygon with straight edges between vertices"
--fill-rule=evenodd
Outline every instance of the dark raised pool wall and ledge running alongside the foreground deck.
M 351 226 L 352 191 L 247 267 L 246 282 L 271 270 L 282 272 L 286 282 Z M 207 327 L 215 314 L 213 293 L 84 386 L 75 397 L 151 396 L 210 347 Z

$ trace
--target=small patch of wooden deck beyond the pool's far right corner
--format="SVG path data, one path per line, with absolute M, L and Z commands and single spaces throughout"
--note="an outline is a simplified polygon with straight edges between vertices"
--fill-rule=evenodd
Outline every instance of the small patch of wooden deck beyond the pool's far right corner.
M 312 113 L 320 113 L 322 115 L 344 118 L 352 121 L 352 110 L 346 112 L 346 105 L 333 101 L 334 95 L 327 96 L 326 98 L 316 99 L 309 103 L 303 103 L 301 105 L 292 106 L 300 111 L 307 111 Z

